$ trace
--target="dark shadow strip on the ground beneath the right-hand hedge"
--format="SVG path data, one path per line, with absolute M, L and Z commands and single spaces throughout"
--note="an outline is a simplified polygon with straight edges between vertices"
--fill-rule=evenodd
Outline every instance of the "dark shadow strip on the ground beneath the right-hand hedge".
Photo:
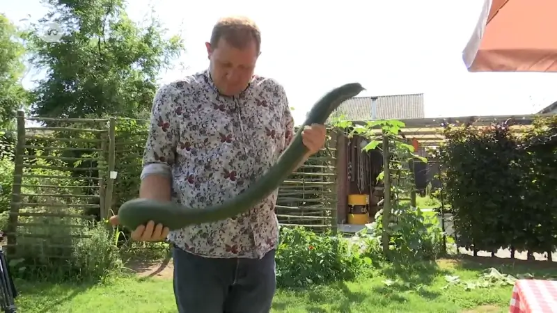
M 496 268 L 503 274 L 510 274 L 515 277 L 529 274 L 532 278 L 557 279 L 557 262 L 500 257 L 473 257 L 471 255 L 460 255 L 456 260 L 456 268 L 470 271 Z

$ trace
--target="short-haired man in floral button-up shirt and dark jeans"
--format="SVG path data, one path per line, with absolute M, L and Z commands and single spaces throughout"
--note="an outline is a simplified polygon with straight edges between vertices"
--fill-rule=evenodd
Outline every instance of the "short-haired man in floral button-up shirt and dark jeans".
M 260 31 L 226 17 L 205 43 L 210 68 L 160 88 L 152 107 L 140 198 L 187 207 L 219 204 L 249 188 L 276 163 L 293 136 L 283 87 L 253 75 Z M 309 157 L 324 144 L 323 125 L 304 129 Z M 139 226 L 132 238 L 173 242 L 179 312 L 269 312 L 276 288 L 277 191 L 245 214 L 168 232 Z M 118 217 L 112 219 L 118 223 Z

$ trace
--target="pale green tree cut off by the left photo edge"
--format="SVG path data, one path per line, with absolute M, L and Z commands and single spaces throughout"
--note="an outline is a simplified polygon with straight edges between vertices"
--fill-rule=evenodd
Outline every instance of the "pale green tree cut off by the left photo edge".
M 29 103 L 21 83 L 25 49 L 18 40 L 15 25 L 0 14 L 0 129 L 13 127 L 15 112 Z

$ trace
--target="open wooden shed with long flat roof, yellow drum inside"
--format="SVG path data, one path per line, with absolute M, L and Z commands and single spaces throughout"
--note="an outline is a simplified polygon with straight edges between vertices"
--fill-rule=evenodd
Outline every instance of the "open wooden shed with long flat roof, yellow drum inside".
M 357 103 L 358 98 L 354 98 Z M 333 116 L 340 118 L 343 115 L 343 107 L 339 108 Z M 466 116 L 455 118 L 377 118 L 399 120 L 405 124 L 400 130 L 401 139 L 417 147 L 416 154 L 427 158 L 427 163 L 417 162 L 414 164 L 414 175 L 416 179 L 416 189 L 421 191 L 425 186 L 431 184 L 434 188 L 439 188 L 440 184 L 435 178 L 440 171 L 441 164 L 432 157 L 429 150 L 439 146 L 444 141 L 444 125 L 475 125 L 476 127 L 489 126 L 492 123 L 512 120 L 512 126 L 518 133 L 525 129 L 524 126 L 531 125 L 535 118 L 551 114 L 538 115 L 491 115 L 491 116 Z M 360 115 L 364 116 L 364 115 Z M 344 118 L 348 120 L 347 118 Z M 370 119 L 369 119 L 370 120 Z M 352 119 L 354 125 L 365 125 L 366 120 Z M 377 130 L 380 134 L 380 130 Z M 382 153 L 378 150 L 362 152 L 365 146 L 365 139 L 359 136 L 348 138 L 346 134 L 337 133 L 336 138 L 336 191 L 337 191 L 337 223 L 338 229 L 345 232 L 356 232 L 361 230 L 362 225 L 350 223 L 349 220 L 349 198 L 350 195 L 361 194 L 369 195 L 369 215 L 372 218 L 379 209 L 383 196 L 383 186 L 377 182 L 377 175 L 382 172 Z M 419 164 L 421 163 L 421 164 Z

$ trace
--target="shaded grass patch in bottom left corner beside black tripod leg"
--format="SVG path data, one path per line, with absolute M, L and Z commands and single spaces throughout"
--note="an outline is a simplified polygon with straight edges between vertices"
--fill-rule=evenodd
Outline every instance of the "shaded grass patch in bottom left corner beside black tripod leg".
M 15 303 L 20 312 L 56 312 L 56 308 L 75 296 L 84 293 L 95 283 L 52 284 L 48 282 L 27 282 L 16 280 L 15 287 L 19 295 Z

